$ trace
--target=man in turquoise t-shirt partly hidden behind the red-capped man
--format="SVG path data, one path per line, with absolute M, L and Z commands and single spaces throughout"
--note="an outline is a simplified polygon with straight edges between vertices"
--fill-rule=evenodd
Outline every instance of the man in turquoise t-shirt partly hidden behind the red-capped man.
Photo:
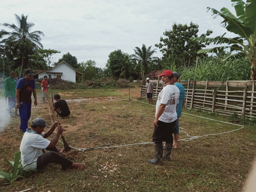
M 173 72 L 173 82 L 176 85 L 176 87 L 180 90 L 180 97 L 179 97 L 179 103 L 177 104 L 176 113 L 177 113 L 177 120 L 174 125 L 174 142 L 173 142 L 173 148 L 178 148 L 178 137 L 179 137 L 179 119 L 182 113 L 182 108 L 185 105 L 185 89 L 182 84 L 179 83 L 179 73 Z

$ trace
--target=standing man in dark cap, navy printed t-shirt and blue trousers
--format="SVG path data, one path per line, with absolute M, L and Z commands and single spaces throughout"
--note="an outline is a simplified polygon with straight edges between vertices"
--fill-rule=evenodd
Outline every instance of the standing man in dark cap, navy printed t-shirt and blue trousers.
M 16 85 L 16 108 L 20 113 L 20 130 L 26 132 L 28 121 L 31 116 L 32 93 L 34 104 L 37 106 L 35 80 L 32 79 L 35 74 L 31 69 L 25 70 L 25 77 L 19 79 Z

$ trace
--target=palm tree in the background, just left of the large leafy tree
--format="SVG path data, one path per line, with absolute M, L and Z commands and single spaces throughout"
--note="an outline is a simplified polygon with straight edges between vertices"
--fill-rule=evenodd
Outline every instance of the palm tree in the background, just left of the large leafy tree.
M 135 47 L 135 54 L 132 55 L 132 57 L 138 61 L 138 64 L 142 66 L 141 71 L 143 71 L 143 76 L 148 73 L 148 65 L 158 59 L 158 57 L 153 57 L 156 49 L 151 50 L 151 47 L 152 46 L 146 48 L 145 44 L 142 45 L 141 49 L 139 47 Z

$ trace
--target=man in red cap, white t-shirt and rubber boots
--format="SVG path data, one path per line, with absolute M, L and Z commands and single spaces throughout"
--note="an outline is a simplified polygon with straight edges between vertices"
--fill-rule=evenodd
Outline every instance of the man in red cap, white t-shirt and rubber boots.
M 151 164 L 162 164 L 163 159 L 171 160 L 173 143 L 173 126 L 177 119 L 176 105 L 179 102 L 180 90 L 172 81 L 171 70 L 164 70 L 159 75 L 163 82 L 163 89 L 158 95 L 154 119 L 153 142 L 155 143 L 155 158 L 148 160 Z M 163 154 L 163 142 L 166 142 Z

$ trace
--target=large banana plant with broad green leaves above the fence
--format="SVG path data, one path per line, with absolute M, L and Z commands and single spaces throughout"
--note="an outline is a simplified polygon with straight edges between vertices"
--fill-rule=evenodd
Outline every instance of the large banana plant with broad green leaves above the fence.
M 214 47 L 211 49 L 201 49 L 198 53 L 220 52 L 230 48 L 230 52 L 236 51 L 232 57 L 246 56 L 250 60 L 250 79 L 255 80 L 255 59 L 256 59 L 256 0 L 247 0 L 246 3 L 242 0 L 231 0 L 234 2 L 232 6 L 236 10 L 236 16 L 233 15 L 227 8 L 222 8 L 221 11 L 207 7 L 207 11 L 211 11 L 213 18 L 221 16 L 224 20 L 221 22 L 224 28 L 229 32 L 238 35 L 235 38 L 227 38 L 224 35 L 215 38 L 192 38 L 199 42 L 207 42 L 214 44 L 227 44 L 222 47 Z M 230 57 L 228 56 L 228 57 Z M 227 57 L 227 58 L 228 58 Z M 226 58 L 226 59 L 227 59 Z

